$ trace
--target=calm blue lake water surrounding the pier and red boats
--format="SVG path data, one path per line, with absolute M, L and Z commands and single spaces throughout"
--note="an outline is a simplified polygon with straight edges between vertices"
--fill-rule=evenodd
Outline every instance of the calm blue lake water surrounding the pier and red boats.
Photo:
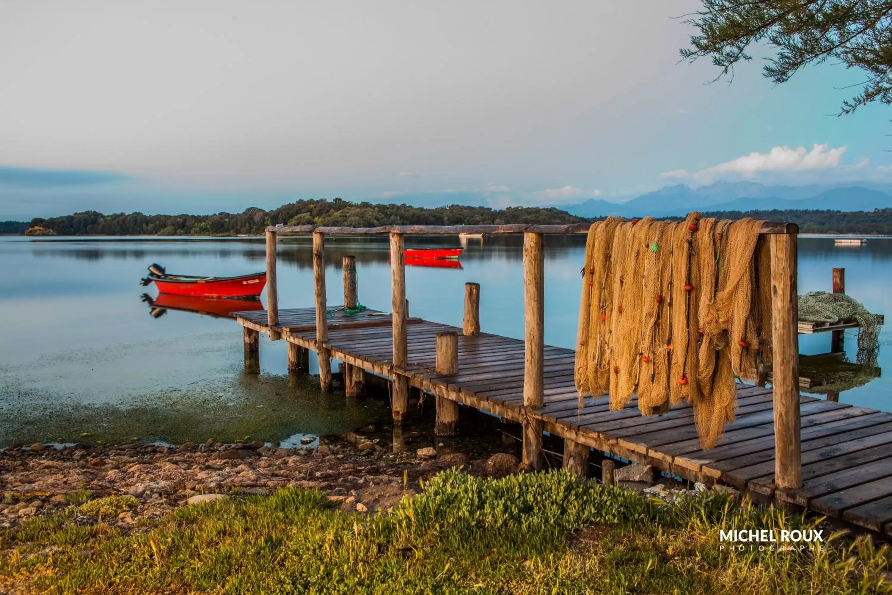
M 455 237 L 407 238 L 408 247 L 456 245 Z M 546 240 L 546 343 L 573 348 L 584 237 Z M 326 241 L 326 291 L 343 295 L 341 259 L 357 257 L 359 302 L 390 310 L 386 238 Z M 483 331 L 523 337 L 522 238 L 472 239 L 462 269 L 408 267 L 412 316 L 461 326 L 464 284 L 481 284 Z M 186 442 L 246 435 L 277 441 L 333 434 L 389 412 L 376 399 L 322 394 L 309 376 L 286 374 L 284 341 L 261 337 L 260 375 L 244 373 L 234 320 L 167 310 L 150 316 L 138 285 L 152 262 L 181 274 L 233 276 L 264 269 L 261 238 L 50 238 L 0 236 L 0 444 L 104 441 Z M 282 308 L 313 303 L 310 238 L 279 247 Z M 868 310 L 892 314 L 892 239 L 837 248 L 799 241 L 799 292 L 830 290 L 830 269 L 847 269 L 847 292 Z M 892 333 L 880 335 L 880 362 L 892 373 Z M 855 359 L 855 331 L 846 336 Z M 800 337 L 803 353 L 830 351 L 830 335 Z M 313 362 L 315 369 L 315 362 Z M 842 393 L 840 401 L 892 410 L 888 376 Z

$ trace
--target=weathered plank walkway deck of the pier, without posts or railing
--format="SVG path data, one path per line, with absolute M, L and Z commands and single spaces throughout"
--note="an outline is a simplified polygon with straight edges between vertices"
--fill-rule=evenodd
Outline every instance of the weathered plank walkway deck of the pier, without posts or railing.
M 334 310 L 334 311 L 332 311 Z M 712 450 L 701 450 L 692 409 L 683 403 L 664 415 L 642 417 L 635 401 L 611 411 L 607 397 L 586 398 L 578 409 L 574 351 L 546 346 L 544 405 L 524 408 L 524 342 L 500 335 L 462 335 L 454 326 L 409 320 L 409 364 L 392 366 L 389 315 L 373 310 L 348 316 L 329 309 L 332 357 L 380 376 L 406 376 L 427 393 L 506 417 L 543 420 L 545 431 L 692 481 L 726 483 L 812 508 L 892 535 L 892 414 L 800 397 L 803 487 L 774 489 L 771 389 L 741 384 L 737 420 Z M 268 333 L 265 310 L 236 312 L 238 322 Z M 280 310 L 285 341 L 318 351 L 315 310 Z M 379 324 L 380 323 L 380 324 Z M 438 333 L 458 332 L 458 374 L 434 372 Z

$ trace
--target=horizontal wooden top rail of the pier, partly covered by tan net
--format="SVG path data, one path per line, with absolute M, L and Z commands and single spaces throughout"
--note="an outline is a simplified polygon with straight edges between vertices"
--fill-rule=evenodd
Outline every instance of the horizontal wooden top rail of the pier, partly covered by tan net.
M 383 227 L 326 227 L 315 225 L 277 225 L 267 227 L 278 234 L 330 234 L 336 236 L 368 236 L 376 234 L 425 234 L 441 236 L 457 236 L 458 234 L 587 234 L 591 223 L 568 223 L 566 225 L 393 225 Z M 766 221 L 760 233 L 763 234 L 798 234 L 799 227 L 795 223 L 775 223 Z

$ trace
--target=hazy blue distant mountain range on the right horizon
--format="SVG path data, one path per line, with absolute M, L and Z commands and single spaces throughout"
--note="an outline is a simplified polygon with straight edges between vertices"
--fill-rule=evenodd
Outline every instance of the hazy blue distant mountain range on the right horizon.
M 558 208 L 577 217 L 670 216 L 690 211 L 767 209 L 873 211 L 892 208 L 892 185 L 764 186 L 757 182 L 718 182 L 698 188 L 666 186 L 626 202 L 590 199 Z

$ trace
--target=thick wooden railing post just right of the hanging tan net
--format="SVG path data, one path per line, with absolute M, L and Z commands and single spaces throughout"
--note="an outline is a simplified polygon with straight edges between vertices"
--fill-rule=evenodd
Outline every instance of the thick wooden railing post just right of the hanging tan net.
M 771 236 L 772 373 L 774 392 L 774 484 L 802 487 L 799 442 L 799 335 L 797 236 Z

